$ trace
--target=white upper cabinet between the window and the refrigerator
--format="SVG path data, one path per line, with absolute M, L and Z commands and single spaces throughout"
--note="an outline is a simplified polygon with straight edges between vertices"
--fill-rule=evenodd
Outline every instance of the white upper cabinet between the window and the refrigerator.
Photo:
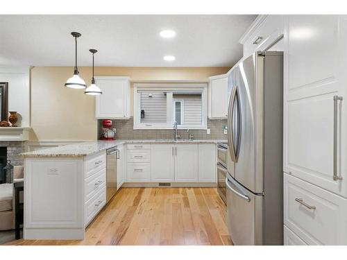
M 212 76 L 208 84 L 208 117 L 226 119 L 228 116 L 228 74 Z

